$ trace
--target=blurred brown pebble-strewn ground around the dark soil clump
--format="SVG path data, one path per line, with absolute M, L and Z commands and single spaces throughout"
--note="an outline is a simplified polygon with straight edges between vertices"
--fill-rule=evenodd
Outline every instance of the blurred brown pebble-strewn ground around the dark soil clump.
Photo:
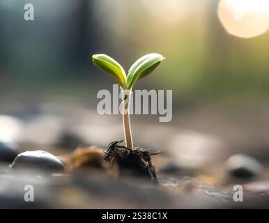
M 0 116 L 0 208 L 268 208 L 269 144 L 249 117 L 236 123 L 200 110 L 183 112 L 173 125 L 134 117 L 134 141 L 162 151 L 152 157 L 160 182 L 153 184 L 102 160 L 107 144 L 122 138 L 117 117 L 52 107 Z M 23 153 L 40 150 L 49 153 Z M 33 185 L 34 202 L 24 199 L 26 185 Z M 234 201 L 235 185 L 242 202 Z

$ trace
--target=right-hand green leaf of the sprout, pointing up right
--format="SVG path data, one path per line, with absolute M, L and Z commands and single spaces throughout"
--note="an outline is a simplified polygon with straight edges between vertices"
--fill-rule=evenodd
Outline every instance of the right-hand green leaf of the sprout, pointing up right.
M 157 66 L 164 60 L 164 57 L 160 54 L 146 54 L 142 56 L 130 67 L 127 77 L 127 87 L 132 89 L 134 83 L 149 75 Z

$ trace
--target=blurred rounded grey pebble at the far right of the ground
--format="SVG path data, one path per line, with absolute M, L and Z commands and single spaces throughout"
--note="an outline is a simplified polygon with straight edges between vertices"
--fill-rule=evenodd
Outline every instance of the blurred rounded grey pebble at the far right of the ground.
M 262 165 L 257 160 L 242 154 L 229 157 L 226 165 L 232 176 L 240 178 L 258 176 L 263 169 Z

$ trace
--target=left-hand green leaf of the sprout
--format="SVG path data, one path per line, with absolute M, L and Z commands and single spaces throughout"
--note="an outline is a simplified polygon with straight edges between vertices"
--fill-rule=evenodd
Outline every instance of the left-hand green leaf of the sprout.
M 127 88 L 126 74 L 123 67 L 106 54 L 93 55 L 93 64 L 114 77 L 123 89 Z

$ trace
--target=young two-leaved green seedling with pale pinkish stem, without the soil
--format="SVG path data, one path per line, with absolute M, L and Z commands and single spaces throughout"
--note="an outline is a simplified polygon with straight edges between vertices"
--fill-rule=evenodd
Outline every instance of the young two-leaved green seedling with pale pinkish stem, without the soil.
M 110 76 L 114 77 L 118 84 L 121 86 L 122 100 L 123 100 L 123 129 L 125 135 L 125 144 L 129 149 L 133 149 L 132 132 L 130 126 L 129 116 L 129 102 L 132 86 L 139 79 L 149 75 L 157 66 L 164 60 L 160 54 L 152 53 L 142 56 L 132 64 L 126 75 L 123 67 L 110 56 L 105 54 L 93 55 L 93 63 L 101 70 L 107 72 Z

